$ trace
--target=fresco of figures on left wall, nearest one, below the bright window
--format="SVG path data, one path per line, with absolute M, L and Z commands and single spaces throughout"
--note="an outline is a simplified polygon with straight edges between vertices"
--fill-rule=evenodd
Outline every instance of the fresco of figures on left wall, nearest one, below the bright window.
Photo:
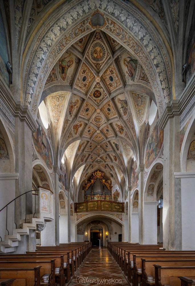
M 38 154 L 40 154 L 46 166 L 51 170 L 53 167 L 51 146 L 44 128 L 39 123 L 36 132 L 33 133 L 32 138 L 36 151 Z

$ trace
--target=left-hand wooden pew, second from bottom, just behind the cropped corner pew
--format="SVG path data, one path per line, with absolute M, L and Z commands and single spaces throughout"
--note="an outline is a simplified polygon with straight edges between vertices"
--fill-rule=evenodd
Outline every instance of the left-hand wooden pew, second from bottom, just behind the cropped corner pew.
M 40 268 L 0 268 L 0 277 L 15 279 L 13 286 L 40 286 Z

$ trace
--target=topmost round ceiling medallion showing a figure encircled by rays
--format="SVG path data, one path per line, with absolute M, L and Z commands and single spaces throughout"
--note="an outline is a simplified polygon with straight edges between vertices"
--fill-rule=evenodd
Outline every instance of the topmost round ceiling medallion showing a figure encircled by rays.
M 90 46 L 89 57 L 93 63 L 103 63 L 107 57 L 107 50 L 99 40 L 93 42 Z

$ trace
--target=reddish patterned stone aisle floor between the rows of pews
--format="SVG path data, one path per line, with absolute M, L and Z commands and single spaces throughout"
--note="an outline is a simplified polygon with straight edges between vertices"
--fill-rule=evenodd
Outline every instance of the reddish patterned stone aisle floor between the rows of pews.
M 68 286 L 127 286 L 129 283 L 107 248 L 92 248 Z

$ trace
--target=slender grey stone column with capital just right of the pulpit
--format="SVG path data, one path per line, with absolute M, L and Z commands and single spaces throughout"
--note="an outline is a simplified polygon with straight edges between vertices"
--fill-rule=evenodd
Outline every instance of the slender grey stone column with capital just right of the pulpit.
M 59 229 L 59 176 L 62 171 L 58 166 L 54 166 L 54 206 L 55 206 L 55 244 L 59 245 L 60 242 L 60 229 Z

